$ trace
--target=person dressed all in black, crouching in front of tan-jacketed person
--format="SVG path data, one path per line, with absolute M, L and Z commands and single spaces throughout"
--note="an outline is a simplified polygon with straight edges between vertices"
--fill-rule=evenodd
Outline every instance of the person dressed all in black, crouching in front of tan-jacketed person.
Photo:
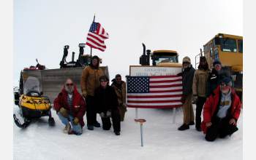
M 110 87 L 107 76 L 99 78 L 100 86 L 95 90 L 95 103 L 97 112 L 102 119 L 102 128 L 109 130 L 111 127 L 110 117 L 113 121 L 113 129 L 116 135 L 120 135 L 120 114 L 118 100 L 113 87 Z

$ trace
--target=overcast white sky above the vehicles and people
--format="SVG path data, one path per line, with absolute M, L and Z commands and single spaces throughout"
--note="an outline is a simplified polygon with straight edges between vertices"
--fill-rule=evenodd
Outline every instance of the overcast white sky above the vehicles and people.
M 217 33 L 243 36 L 242 0 L 14 0 L 13 5 L 15 84 L 36 58 L 47 68 L 59 68 L 64 45 L 69 45 L 67 61 L 72 52 L 77 60 L 78 44 L 86 42 L 94 13 L 110 38 L 105 52 L 93 49 L 93 55 L 108 65 L 110 79 L 139 65 L 142 42 L 146 49 L 176 50 L 180 61 L 189 56 L 195 65 L 195 55 Z

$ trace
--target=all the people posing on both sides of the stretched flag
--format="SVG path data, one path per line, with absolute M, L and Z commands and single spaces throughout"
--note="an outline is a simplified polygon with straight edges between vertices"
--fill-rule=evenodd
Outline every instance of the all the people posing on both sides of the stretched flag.
M 222 64 L 218 59 L 214 60 L 213 65 L 214 68 L 210 71 L 206 57 L 202 56 L 198 69 L 195 70 L 190 58 L 184 57 L 181 73 L 184 121 L 178 130 L 186 130 L 189 125 L 195 125 L 197 131 L 203 130 L 208 141 L 236 132 L 236 122 L 241 111 L 241 101 L 233 89 L 230 73 L 222 71 Z M 120 74 L 112 82 L 110 85 L 108 76 L 99 68 L 97 56 L 92 57 L 91 64 L 83 69 L 80 79 L 82 95 L 74 81 L 67 79 L 53 104 L 59 119 L 65 125 L 65 133 L 81 135 L 85 113 L 89 130 L 100 127 L 97 121 L 99 113 L 102 129 L 109 130 L 113 124 L 114 133 L 120 135 L 120 124 L 127 112 L 126 84 L 121 80 Z M 195 115 L 192 100 L 196 102 Z

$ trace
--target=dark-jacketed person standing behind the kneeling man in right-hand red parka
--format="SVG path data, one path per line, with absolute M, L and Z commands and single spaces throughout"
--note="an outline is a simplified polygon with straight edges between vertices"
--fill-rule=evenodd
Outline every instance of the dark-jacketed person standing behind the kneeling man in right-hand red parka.
M 207 82 L 207 97 L 211 95 L 211 93 L 214 91 L 214 89 L 217 88 L 217 86 L 220 84 L 220 73 L 222 70 L 222 63 L 219 61 L 219 59 L 214 59 L 214 68 L 212 68 L 211 73 L 208 76 L 208 82 Z

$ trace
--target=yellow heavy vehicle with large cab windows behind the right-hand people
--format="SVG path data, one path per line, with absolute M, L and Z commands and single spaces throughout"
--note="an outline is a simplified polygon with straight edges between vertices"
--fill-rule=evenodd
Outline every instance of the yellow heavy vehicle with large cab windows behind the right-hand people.
M 213 68 L 214 59 L 218 58 L 222 66 L 227 68 L 234 81 L 234 87 L 242 98 L 243 92 L 243 37 L 225 33 L 218 33 L 203 45 L 203 52 L 195 57 L 195 66 L 199 64 L 199 57 L 206 56 L 208 65 Z

